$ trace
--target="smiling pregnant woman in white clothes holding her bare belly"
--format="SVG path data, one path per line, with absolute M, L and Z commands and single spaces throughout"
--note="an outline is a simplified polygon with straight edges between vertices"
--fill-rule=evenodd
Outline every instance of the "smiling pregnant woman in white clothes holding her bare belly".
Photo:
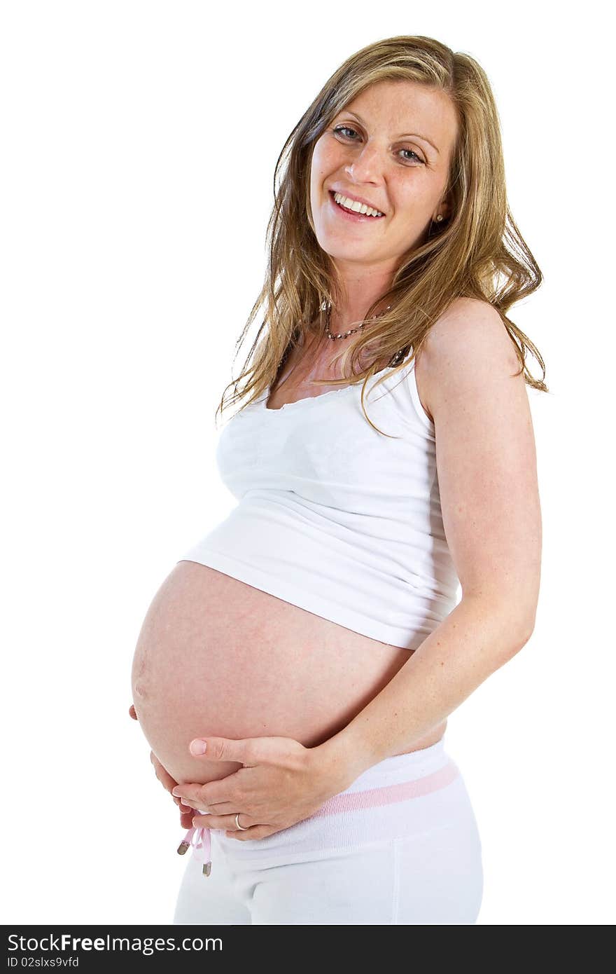
M 264 321 L 220 406 L 241 402 L 217 448 L 237 505 L 133 660 L 192 846 L 174 922 L 474 923 L 481 842 L 444 734 L 534 625 L 526 385 L 547 387 L 506 312 L 541 272 L 486 74 L 436 40 L 350 56 L 285 152 L 242 339 Z

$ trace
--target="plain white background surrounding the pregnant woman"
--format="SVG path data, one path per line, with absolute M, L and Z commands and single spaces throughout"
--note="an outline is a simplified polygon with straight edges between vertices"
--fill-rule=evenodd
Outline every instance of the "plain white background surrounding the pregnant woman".
M 509 313 L 550 387 L 529 390 L 536 626 L 447 734 L 482 835 L 479 922 L 614 921 L 611 32 L 598 3 L 569 9 L 3 4 L 3 922 L 171 921 L 186 860 L 127 715 L 135 641 L 234 504 L 214 410 L 280 148 L 345 57 L 402 33 L 488 72 L 545 275 Z

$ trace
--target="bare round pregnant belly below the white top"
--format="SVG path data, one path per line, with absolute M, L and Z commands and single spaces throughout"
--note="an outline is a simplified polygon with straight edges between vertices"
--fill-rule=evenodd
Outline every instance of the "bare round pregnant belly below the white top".
M 181 561 L 143 621 L 133 703 L 169 774 L 204 783 L 241 766 L 193 758 L 194 737 L 281 735 L 314 747 L 341 731 L 411 655 Z M 435 743 L 446 726 L 409 751 Z

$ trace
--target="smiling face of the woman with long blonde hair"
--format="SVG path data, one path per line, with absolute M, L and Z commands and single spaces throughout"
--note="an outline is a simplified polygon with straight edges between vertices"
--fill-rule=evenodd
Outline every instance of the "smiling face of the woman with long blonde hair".
M 447 186 L 457 120 L 449 95 L 416 82 L 380 81 L 339 112 L 314 145 L 310 206 L 316 238 L 356 272 L 393 271 L 420 244 Z M 347 216 L 333 191 L 383 216 Z

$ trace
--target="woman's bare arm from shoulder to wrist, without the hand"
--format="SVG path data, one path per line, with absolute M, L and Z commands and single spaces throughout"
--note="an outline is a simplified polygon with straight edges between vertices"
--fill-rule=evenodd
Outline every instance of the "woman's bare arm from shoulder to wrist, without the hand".
M 412 747 L 530 637 L 541 513 L 519 367 L 497 313 L 470 299 L 434 325 L 421 351 L 443 520 L 462 598 L 368 706 L 316 749 L 319 762 L 346 775 L 347 784 Z

